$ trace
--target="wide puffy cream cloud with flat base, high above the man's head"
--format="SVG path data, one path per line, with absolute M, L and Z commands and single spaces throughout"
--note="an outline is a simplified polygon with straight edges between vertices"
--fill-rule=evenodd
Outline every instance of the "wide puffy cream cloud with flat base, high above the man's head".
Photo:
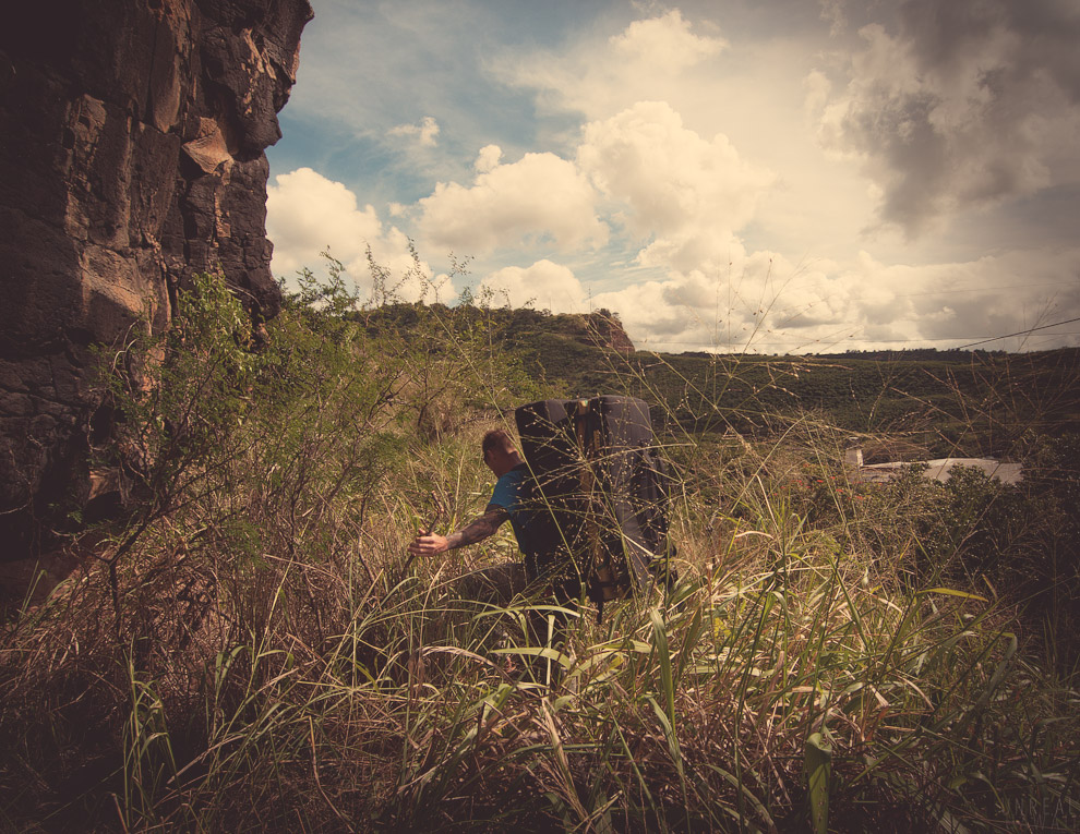
M 485 150 L 481 158 L 495 162 Z M 420 201 L 420 228 L 432 245 L 469 254 L 540 241 L 567 251 L 607 241 L 596 201 L 595 189 L 573 162 L 554 154 L 526 154 L 479 172 L 469 186 L 437 183 Z

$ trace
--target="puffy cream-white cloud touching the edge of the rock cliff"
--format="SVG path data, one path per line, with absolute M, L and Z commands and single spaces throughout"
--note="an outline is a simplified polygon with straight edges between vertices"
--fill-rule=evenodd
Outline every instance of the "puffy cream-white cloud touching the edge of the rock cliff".
M 360 208 L 345 185 L 311 168 L 277 174 L 267 183 L 266 234 L 274 243 L 272 269 L 287 279 L 304 267 L 322 274 L 321 253 L 328 249 L 367 298 L 372 290 L 370 246 L 375 263 L 388 270 L 391 288 L 407 301 L 431 299 L 431 281 L 439 280 L 427 264 L 415 263 L 404 232 L 384 227 L 372 206 Z

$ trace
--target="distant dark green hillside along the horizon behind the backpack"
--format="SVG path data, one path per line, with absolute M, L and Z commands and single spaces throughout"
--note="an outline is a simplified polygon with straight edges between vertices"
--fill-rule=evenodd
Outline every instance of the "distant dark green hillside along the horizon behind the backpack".
M 792 419 L 852 434 L 889 434 L 914 458 L 1008 458 L 1033 432 L 1080 430 L 1080 349 L 848 352 L 826 355 L 665 354 L 634 350 L 608 311 L 394 304 L 362 314 L 369 331 L 437 316 L 515 352 L 553 396 L 628 394 L 659 426 L 766 434 Z

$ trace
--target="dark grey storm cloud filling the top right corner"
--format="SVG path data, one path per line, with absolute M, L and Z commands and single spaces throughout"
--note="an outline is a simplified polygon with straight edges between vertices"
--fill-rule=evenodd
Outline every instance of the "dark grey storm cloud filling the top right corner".
M 820 140 L 861 159 L 880 217 L 915 237 L 951 215 L 1080 181 L 1080 12 L 1057 0 L 908 0 L 860 29 Z

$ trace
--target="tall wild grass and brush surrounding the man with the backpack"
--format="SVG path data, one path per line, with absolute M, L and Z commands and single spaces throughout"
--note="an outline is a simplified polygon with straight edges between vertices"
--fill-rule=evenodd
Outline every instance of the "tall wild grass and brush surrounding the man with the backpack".
M 851 483 L 843 436 L 819 416 L 751 439 L 667 437 L 679 584 L 599 624 L 568 609 L 555 650 L 528 626 L 551 601 L 502 608 L 456 591 L 461 573 L 515 557 L 508 530 L 406 557 L 433 518 L 451 529 L 482 510 L 483 430 L 552 392 L 482 316 L 471 335 L 421 313 L 372 339 L 312 295 L 251 353 L 221 327 L 240 313 L 214 282 L 185 315 L 224 335 L 159 346 L 144 371 L 155 385 L 115 389 L 117 454 L 141 460 L 130 518 L 5 621 L 4 826 L 1080 820 L 1080 696 L 1031 651 L 1022 601 L 934 557 L 938 487 Z M 557 674 L 538 681 L 537 656 Z

